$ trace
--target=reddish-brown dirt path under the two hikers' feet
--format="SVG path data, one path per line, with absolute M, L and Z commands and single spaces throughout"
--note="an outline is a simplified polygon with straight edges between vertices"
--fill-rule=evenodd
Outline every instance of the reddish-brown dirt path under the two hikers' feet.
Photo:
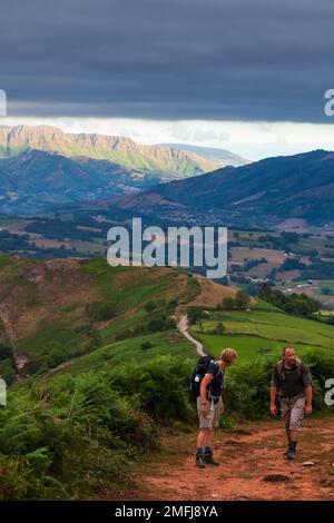
M 218 431 L 214 448 L 219 467 L 195 467 L 196 434 L 165 435 L 165 451 L 139 466 L 132 476 L 136 487 L 119 499 L 334 500 L 334 417 L 305 421 L 293 462 L 283 455 L 285 438 L 278 420 Z M 314 465 L 304 466 L 306 461 Z

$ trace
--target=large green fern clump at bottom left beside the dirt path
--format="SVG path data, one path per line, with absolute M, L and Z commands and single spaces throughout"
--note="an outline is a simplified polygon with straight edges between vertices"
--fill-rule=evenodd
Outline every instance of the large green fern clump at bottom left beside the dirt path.
M 24 385 L 0 409 L 1 500 L 94 496 L 157 446 L 157 426 L 136 395 L 111 388 L 104 373 Z

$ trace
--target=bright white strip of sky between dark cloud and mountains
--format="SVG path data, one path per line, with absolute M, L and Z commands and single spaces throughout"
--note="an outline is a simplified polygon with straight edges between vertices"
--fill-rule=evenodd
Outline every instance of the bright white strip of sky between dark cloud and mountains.
M 75 134 L 121 136 L 143 145 L 184 144 L 226 149 L 253 161 L 314 149 L 334 150 L 334 131 L 330 124 L 10 116 L 0 119 L 0 126 L 20 125 L 53 126 Z

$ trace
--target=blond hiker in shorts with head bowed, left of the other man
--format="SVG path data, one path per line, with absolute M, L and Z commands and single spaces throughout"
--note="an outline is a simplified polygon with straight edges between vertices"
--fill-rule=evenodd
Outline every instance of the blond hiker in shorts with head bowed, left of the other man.
M 219 416 L 224 413 L 222 392 L 224 387 L 225 368 L 237 358 L 233 348 L 225 348 L 218 361 L 208 364 L 206 374 L 200 382 L 200 396 L 197 397 L 197 412 L 199 418 L 199 433 L 197 437 L 196 461 L 199 468 L 205 463 L 218 466 L 214 460 L 213 440 L 214 427 L 218 426 Z

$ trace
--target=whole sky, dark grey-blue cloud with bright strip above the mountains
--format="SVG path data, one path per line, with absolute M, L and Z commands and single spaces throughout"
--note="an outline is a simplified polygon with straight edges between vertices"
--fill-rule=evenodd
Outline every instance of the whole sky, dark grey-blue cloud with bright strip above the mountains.
M 333 0 L 1 0 L 0 124 L 334 149 Z

